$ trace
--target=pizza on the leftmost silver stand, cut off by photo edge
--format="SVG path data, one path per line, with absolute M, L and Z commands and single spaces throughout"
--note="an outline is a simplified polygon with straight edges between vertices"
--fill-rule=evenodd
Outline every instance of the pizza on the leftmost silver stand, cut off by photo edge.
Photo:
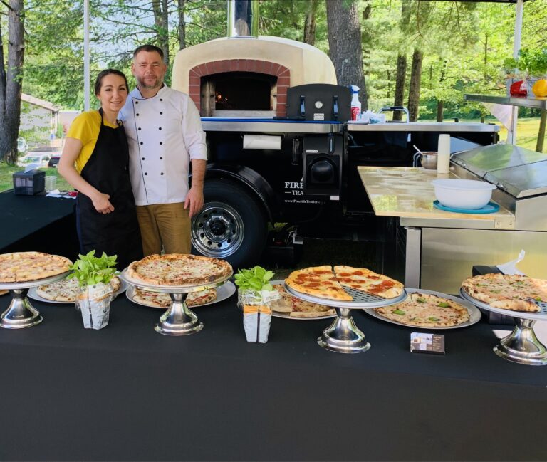
M 0 255 L 0 283 L 24 283 L 55 276 L 71 268 L 68 258 L 42 252 Z

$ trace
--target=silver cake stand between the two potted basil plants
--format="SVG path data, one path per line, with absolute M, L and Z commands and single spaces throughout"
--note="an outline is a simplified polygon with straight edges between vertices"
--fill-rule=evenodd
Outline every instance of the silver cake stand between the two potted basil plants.
M 186 304 L 186 298 L 190 292 L 202 292 L 202 290 L 209 290 L 219 285 L 222 285 L 231 278 L 232 273 L 222 278 L 222 280 L 216 280 L 214 283 L 207 283 L 205 285 L 152 285 L 143 283 L 140 280 L 130 278 L 127 275 L 127 268 L 122 271 L 120 277 L 125 280 L 126 283 L 140 288 L 142 290 L 149 290 L 150 292 L 168 293 L 171 297 L 171 305 L 167 308 L 167 311 L 160 317 L 154 329 L 156 332 L 160 332 L 163 335 L 190 335 L 195 332 L 199 332 L 203 329 L 203 322 L 197 319 L 197 315 L 188 308 Z

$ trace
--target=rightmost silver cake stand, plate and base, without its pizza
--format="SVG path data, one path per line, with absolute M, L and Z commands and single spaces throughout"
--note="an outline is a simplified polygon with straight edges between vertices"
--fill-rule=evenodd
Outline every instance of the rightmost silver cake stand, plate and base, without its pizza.
M 499 341 L 499 345 L 494 347 L 496 355 L 508 361 L 518 362 L 519 364 L 528 364 L 530 366 L 547 365 L 547 348 L 538 340 L 536 332 L 533 332 L 533 325 L 536 324 L 536 321 L 547 320 L 547 303 L 530 299 L 540 308 L 540 311 L 534 313 L 502 310 L 501 308 L 494 308 L 487 303 L 476 300 L 476 298 L 473 298 L 463 289 L 460 289 L 459 293 L 462 294 L 465 300 L 469 300 L 469 302 L 479 308 L 499 313 L 500 315 L 511 316 L 515 320 L 513 332 L 507 335 L 507 337 L 502 338 Z

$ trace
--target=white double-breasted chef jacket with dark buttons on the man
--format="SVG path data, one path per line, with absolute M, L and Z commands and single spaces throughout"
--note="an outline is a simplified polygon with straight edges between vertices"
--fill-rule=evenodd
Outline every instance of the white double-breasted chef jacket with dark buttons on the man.
M 207 160 L 205 132 L 194 102 L 166 85 L 152 98 L 135 88 L 118 117 L 129 142 L 135 204 L 183 202 L 190 160 Z

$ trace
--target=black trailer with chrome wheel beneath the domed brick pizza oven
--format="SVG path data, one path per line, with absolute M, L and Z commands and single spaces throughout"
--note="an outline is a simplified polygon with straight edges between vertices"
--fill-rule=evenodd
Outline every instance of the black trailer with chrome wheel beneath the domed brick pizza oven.
M 198 253 L 234 266 L 257 261 L 273 242 L 298 238 L 381 241 L 390 231 L 375 217 L 359 165 L 412 166 L 413 145 L 437 149 L 439 134 L 452 152 L 498 142 L 496 125 L 479 123 L 303 122 L 203 118 L 208 166 L 205 204 L 192 221 Z M 291 233 L 268 239 L 268 224 Z M 271 229 L 271 228 L 270 228 Z

